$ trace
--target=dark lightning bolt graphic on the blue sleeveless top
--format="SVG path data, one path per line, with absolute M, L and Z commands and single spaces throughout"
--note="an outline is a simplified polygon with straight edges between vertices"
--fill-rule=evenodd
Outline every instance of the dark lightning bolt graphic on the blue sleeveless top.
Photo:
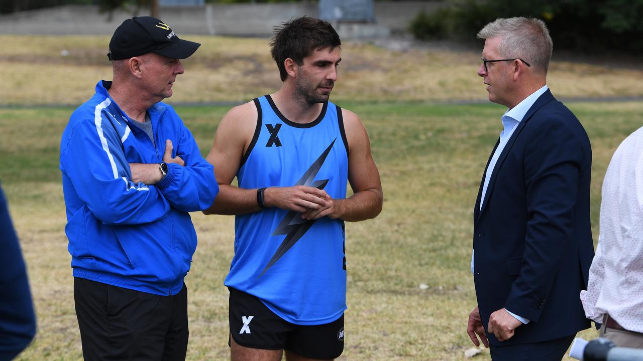
M 300 179 L 295 184 L 295 186 L 309 186 L 318 189 L 324 189 L 326 184 L 328 184 L 328 179 L 314 180 L 314 178 L 320 171 L 321 166 L 326 160 L 328 154 L 331 152 L 332 145 L 335 144 L 336 140 L 337 138 L 333 139 L 331 145 L 329 145 L 328 148 L 323 151 L 320 157 L 317 158 L 314 163 L 312 163 L 310 168 L 308 168 L 308 170 L 303 173 L 302 179 Z M 312 227 L 312 224 L 314 224 L 315 221 L 316 220 L 307 220 L 302 218 L 301 212 L 289 211 L 281 220 L 281 222 L 279 222 L 279 225 L 276 227 L 275 231 L 272 234 L 273 236 L 285 234 L 286 236 L 284 238 L 284 241 L 281 245 L 279 245 L 279 248 L 275 251 L 275 254 L 273 254 L 273 258 L 271 258 L 266 268 L 261 272 L 259 276 L 262 276 L 264 273 L 266 273 L 266 271 L 270 267 L 272 267 L 272 265 L 274 265 L 276 261 L 284 256 L 285 252 L 291 249 L 294 243 L 297 243 L 297 241 L 302 238 L 303 234 L 305 234 L 308 229 Z

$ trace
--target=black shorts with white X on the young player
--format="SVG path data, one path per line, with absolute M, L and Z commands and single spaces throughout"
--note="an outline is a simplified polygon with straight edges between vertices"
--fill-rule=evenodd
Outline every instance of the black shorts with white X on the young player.
M 327 324 L 302 326 L 275 315 L 257 297 L 230 290 L 230 334 L 240 346 L 285 349 L 329 360 L 344 351 L 344 315 Z

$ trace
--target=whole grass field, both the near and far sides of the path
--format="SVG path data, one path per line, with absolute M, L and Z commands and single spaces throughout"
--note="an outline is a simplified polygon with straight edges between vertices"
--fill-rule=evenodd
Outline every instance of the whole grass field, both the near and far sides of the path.
M 266 39 L 189 37 L 203 43 L 184 62 L 170 102 L 242 101 L 280 85 Z M 39 333 L 19 360 L 78 360 L 60 172 L 59 141 L 69 114 L 110 79 L 108 37 L 0 35 L 0 179 L 21 238 Z M 67 49 L 69 57 L 61 57 Z M 480 46 L 482 49 L 482 44 Z M 384 209 L 347 224 L 348 304 L 342 360 L 462 360 L 475 306 L 469 273 L 473 204 L 502 125 L 498 105 L 430 105 L 483 100 L 480 51 L 388 51 L 343 46 L 332 99 L 363 119 L 383 180 Z M 643 71 L 554 62 L 556 96 L 642 96 Z M 70 107 L 30 107 L 34 104 Z M 73 106 L 71 106 L 73 105 Z M 592 225 L 598 235 L 601 182 L 611 154 L 640 127 L 641 103 L 570 103 L 592 141 Z M 205 155 L 229 107 L 177 107 Z M 189 360 L 228 357 L 227 290 L 233 217 L 194 213 L 199 247 L 190 290 Z M 420 289 L 419 285 L 428 285 Z M 587 339 L 595 331 L 583 333 Z M 489 358 L 485 351 L 476 359 Z

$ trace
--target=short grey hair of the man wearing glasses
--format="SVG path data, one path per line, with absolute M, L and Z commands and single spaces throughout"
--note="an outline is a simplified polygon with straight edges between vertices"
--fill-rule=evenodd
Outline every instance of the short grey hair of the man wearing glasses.
M 526 17 L 496 19 L 478 33 L 480 39 L 495 37 L 501 39 L 498 54 L 502 58 L 521 58 L 547 74 L 553 44 L 545 22 Z

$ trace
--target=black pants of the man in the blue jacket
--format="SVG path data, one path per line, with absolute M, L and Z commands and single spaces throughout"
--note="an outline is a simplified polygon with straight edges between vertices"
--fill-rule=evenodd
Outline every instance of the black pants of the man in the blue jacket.
M 82 353 L 89 360 L 185 360 L 188 289 L 176 295 L 74 277 Z

